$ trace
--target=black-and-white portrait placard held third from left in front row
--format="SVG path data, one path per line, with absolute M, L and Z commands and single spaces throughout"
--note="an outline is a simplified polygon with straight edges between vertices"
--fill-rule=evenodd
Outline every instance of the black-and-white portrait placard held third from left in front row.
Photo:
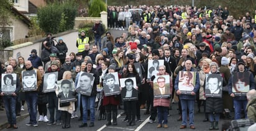
M 43 92 L 53 92 L 57 88 L 58 72 L 50 72 L 44 74 L 43 77 Z

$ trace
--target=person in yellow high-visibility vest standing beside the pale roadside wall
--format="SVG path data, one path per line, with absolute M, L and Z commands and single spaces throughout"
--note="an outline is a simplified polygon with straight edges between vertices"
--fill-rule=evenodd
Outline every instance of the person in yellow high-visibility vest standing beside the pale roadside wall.
M 85 57 L 85 44 L 89 43 L 89 37 L 85 36 L 85 30 L 81 31 L 81 36 L 76 39 L 76 47 L 78 48 L 78 53 L 82 53 Z

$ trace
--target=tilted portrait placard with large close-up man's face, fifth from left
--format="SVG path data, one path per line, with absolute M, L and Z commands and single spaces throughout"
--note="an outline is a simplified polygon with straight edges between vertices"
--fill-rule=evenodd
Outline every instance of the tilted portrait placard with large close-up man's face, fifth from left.
M 93 82 L 94 77 L 92 74 L 87 72 L 80 72 L 76 92 L 81 93 L 82 95 L 91 96 Z

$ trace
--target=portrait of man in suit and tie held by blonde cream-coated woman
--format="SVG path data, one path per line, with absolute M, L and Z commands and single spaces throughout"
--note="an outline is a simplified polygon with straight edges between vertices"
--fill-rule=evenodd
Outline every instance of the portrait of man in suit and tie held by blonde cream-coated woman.
M 66 103 L 70 101 L 76 101 L 75 85 L 71 80 L 61 80 L 60 90 L 58 90 L 58 96 L 60 103 Z

